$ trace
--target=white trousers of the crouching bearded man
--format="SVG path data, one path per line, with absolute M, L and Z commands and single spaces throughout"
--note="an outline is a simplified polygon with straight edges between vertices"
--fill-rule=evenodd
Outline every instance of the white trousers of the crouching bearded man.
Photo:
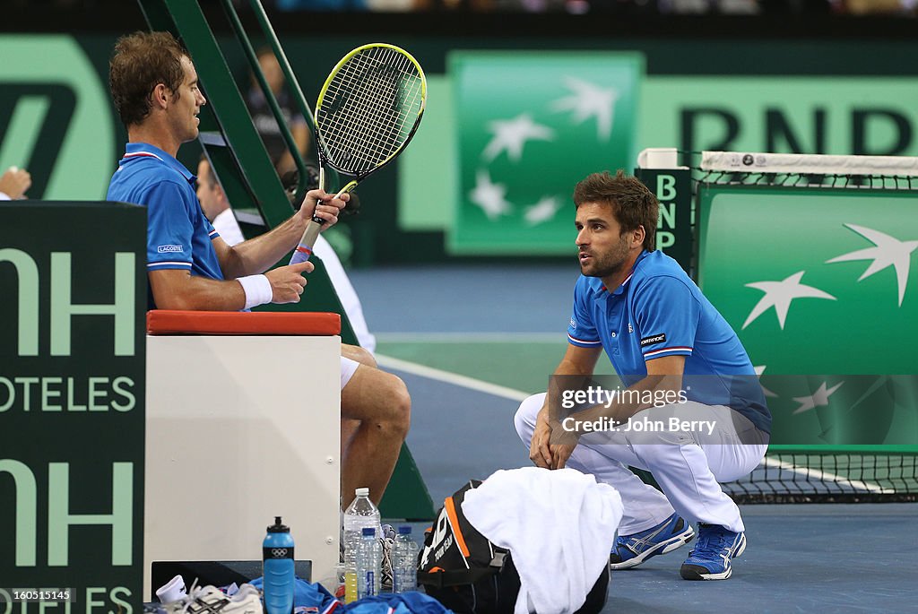
M 535 419 L 545 393 L 525 399 L 514 424 L 523 444 L 532 442 Z M 718 482 L 748 475 L 767 450 L 767 435 L 730 407 L 685 404 L 649 407 L 633 416 L 632 423 L 667 423 L 672 417 L 713 423 L 712 432 L 699 427 L 685 432 L 602 432 L 584 435 L 567 466 L 621 494 L 624 517 L 620 535 L 631 535 L 659 524 L 675 510 L 689 522 L 745 530 L 740 510 Z M 628 467 L 654 474 L 661 493 L 644 484 Z

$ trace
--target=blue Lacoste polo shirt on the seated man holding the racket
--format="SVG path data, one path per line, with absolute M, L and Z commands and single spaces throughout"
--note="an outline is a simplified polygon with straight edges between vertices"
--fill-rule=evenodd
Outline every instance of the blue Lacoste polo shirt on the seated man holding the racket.
M 106 200 L 147 207 L 147 270 L 184 269 L 223 279 L 210 225 L 195 193 L 196 177 L 182 162 L 146 143 L 128 143 Z M 152 305 L 152 293 L 150 293 Z

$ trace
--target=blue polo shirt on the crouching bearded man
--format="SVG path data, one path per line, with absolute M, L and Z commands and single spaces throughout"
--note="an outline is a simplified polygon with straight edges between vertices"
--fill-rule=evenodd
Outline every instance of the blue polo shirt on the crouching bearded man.
M 567 339 L 581 348 L 602 347 L 624 385 L 646 376 L 647 361 L 685 356 L 683 388 L 690 400 L 733 407 L 757 429 L 771 430 L 771 414 L 743 344 L 662 251 L 643 251 L 613 292 L 598 277 L 581 275 Z

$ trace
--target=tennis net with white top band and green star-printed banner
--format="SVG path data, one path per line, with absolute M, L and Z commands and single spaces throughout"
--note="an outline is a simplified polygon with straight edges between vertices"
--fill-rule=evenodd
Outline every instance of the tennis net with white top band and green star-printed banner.
M 918 335 L 905 303 L 912 295 L 904 296 L 906 289 L 914 292 L 906 282 L 914 263 L 909 241 L 915 238 L 918 157 L 670 148 L 646 151 L 647 162 L 652 154 L 656 160 L 649 168 L 690 176 L 691 215 L 678 218 L 692 220 L 689 242 L 694 244 L 687 269 L 724 318 L 735 324 L 759 373 L 765 365 L 767 374 L 901 373 L 909 362 L 899 348 L 907 352 L 909 341 Z M 677 166 L 677 161 L 685 165 Z M 675 211 L 670 218 L 677 219 Z M 874 229 L 884 234 L 880 237 Z M 868 250 L 873 242 L 879 253 L 888 236 L 890 246 L 904 245 L 895 275 L 894 262 L 881 261 Z M 847 270 L 834 264 L 871 260 L 860 269 L 860 263 Z M 877 286 L 869 294 L 867 282 L 859 284 L 878 273 L 880 265 L 889 270 L 887 284 L 898 280 L 884 287 L 898 289 L 899 295 L 890 300 Z M 762 300 L 756 292 L 767 290 L 756 283 L 788 281 L 794 272 L 806 274 L 803 283 L 822 293 L 813 290 L 816 294 L 810 296 L 832 298 L 833 309 L 820 311 L 818 302 L 799 301 L 763 326 L 764 320 L 753 316 L 753 306 Z M 870 309 L 867 318 L 860 312 L 864 306 Z M 788 313 L 793 320 L 785 321 Z M 755 326 L 750 326 L 753 320 Z M 834 334 L 850 329 L 852 322 L 867 322 L 868 334 Z M 870 328 L 873 322 L 882 325 Z M 875 349 L 880 347 L 889 352 L 878 357 Z M 915 375 L 886 375 L 880 377 L 884 383 L 870 382 L 870 377 L 845 375 L 817 382 L 806 375 L 790 376 L 783 383 L 809 378 L 816 386 L 796 393 L 790 385 L 782 391 L 763 378 L 763 386 L 775 393 L 768 398 L 775 445 L 752 474 L 723 485 L 725 492 L 745 503 L 918 501 Z M 837 394 L 819 387 L 829 383 L 834 393 L 843 379 L 845 387 Z

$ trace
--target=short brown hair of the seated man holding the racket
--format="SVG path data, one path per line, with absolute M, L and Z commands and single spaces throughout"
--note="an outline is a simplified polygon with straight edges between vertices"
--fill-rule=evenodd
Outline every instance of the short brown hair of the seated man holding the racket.
M 150 95 L 158 84 L 179 96 L 185 80 L 182 56 L 191 59 L 169 32 L 134 32 L 118 39 L 108 62 L 108 88 L 125 127 L 150 115 Z

